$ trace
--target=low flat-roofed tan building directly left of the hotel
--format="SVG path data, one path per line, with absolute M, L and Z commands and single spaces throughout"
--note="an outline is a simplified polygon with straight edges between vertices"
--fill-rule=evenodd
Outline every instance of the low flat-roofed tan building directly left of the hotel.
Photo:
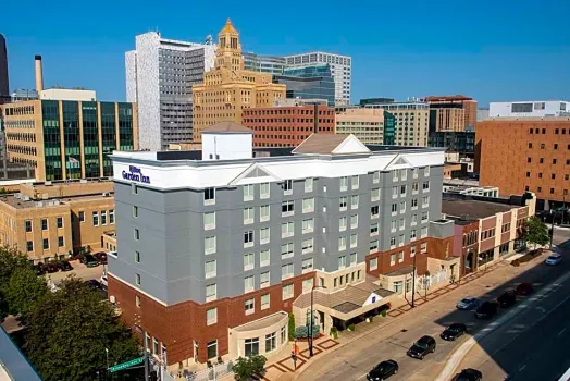
M 0 245 L 36 262 L 64 258 L 82 247 L 107 249 L 104 236 L 114 231 L 111 181 L 23 184 L 18 193 L 0 196 Z

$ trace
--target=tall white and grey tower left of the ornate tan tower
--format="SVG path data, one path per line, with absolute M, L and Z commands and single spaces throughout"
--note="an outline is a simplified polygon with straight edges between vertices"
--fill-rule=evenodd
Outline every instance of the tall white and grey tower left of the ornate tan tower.
M 140 149 L 191 140 L 191 86 L 203 81 L 214 52 L 210 39 L 194 44 L 156 32 L 136 36 L 136 49 L 125 53 L 126 98 L 138 105 Z

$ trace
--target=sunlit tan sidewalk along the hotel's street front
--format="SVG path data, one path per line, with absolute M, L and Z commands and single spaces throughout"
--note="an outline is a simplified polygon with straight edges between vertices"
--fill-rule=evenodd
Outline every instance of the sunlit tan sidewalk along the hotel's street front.
M 434 288 L 433 291 L 430 291 L 426 295 L 423 294 L 423 291 L 420 291 L 417 293 L 414 304 L 417 307 L 428 304 L 464 284 L 471 283 L 474 280 L 484 276 L 485 274 L 491 273 L 496 269 L 503 268 L 505 266 L 508 266 L 508 262 L 498 261 L 490 263 L 484 270 L 470 273 L 453 284 L 446 284 L 445 286 L 442 286 L 439 288 Z M 405 298 L 401 298 L 399 302 L 400 303 L 398 303 L 397 305 L 393 304 L 391 306 L 392 308 L 387 312 L 387 316 L 385 318 L 379 316 L 375 317 L 372 322 L 359 323 L 357 325 L 356 331 L 343 331 L 339 333 L 337 340 L 333 340 L 329 336 L 315 339 L 313 345 L 313 358 L 319 358 L 319 355 L 335 351 L 354 341 L 365 337 L 372 334 L 373 332 L 385 328 L 386 325 L 399 321 L 404 315 L 412 310 L 411 302 Z M 265 366 L 265 374 L 262 378 L 260 377 L 259 379 L 265 381 L 294 380 L 299 374 L 299 371 L 302 371 L 303 368 L 307 367 L 307 364 L 309 361 L 313 361 L 313 359 L 309 357 L 308 344 L 306 342 L 297 344 L 300 351 L 299 355 L 297 356 L 296 365 L 293 362 L 289 352 L 289 354 L 286 357 L 282 357 L 281 359 L 278 359 L 280 357 L 276 357 L 274 360 L 270 359 L 268 361 L 268 366 Z

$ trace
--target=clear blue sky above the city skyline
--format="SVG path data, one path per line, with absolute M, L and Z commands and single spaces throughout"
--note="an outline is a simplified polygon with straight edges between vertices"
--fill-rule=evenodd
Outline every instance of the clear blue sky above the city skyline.
M 4 1 L 11 89 L 96 89 L 124 100 L 124 52 L 135 35 L 202 41 L 231 17 L 244 50 L 324 50 L 352 57 L 352 102 L 464 94 L 493 100 L 570 99 L 563 0 L 495 1 Z

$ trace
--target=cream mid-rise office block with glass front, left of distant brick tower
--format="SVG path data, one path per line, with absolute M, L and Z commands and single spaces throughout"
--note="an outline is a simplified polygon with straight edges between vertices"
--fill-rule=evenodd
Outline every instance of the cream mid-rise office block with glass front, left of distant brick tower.
M 384 109 L 394 115 L 394 139 L 384 144 L 428 147 L 430 105 L 412 98 L 406 102 L 367 103 L 365 108 Z

